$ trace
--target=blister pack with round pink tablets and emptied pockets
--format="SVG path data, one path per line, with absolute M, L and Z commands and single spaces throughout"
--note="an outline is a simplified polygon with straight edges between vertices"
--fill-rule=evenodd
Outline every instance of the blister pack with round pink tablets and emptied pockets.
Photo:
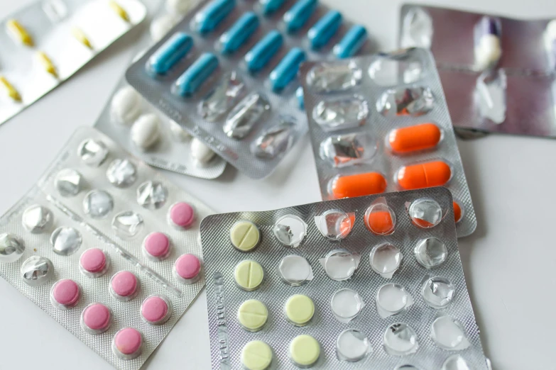
M 205 285 L 210 213 L 81 128 L 0 218 L 0 276 L 117 369 L 139 369 Z

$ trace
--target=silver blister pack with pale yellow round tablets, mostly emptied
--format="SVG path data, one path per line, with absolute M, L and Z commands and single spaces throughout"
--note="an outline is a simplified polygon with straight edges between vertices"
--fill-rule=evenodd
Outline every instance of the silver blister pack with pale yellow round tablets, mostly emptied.
M 442 220 L 432 228 L 415 225 L 408 214 L 408 204 L 426 199 L 442 208 Z M 377 201 L 396 215 L 388 235 L 376 235 L 364 222 Z M 320 230 L 318 221 L 329 211 L 351 215 L 352 228 L 342 240 Z M 295 249 L 273 233 L 286 215 L 307 223 L 307 235 Z M 249 252 L 236 250 L 230 240 L 231 228 L 245 221 L 260 232 Z M 441 369 L 453 361 L 488 369 L 457 249 L 452 196 L 445 188 L 210 215 L 202 221 L 201 238 L 212 369 Z M 426 269 L 414 250 L 430 238 L 442 241 L 446 255 L 444 263 Z M 371 267 L 372 251 L 380 245 L 394 245 L 404 256 L 391 276 Z M 280 276 L 277 267 L 293 256 L 303 262 L 300 267 L 310 266 L 312 279 L 288 284 Z M 246 260 L 265 271 L 249 291 L 234 277 Z M 327 260 L 342 267 L 334 270 L 344 273 L 340 279 L 327 269 Z M 246 320 L 248 313 L 253 320 Z M 256 330 L 244 325 L 250 323 Z M 250 367 L 252 357 L 264 366 Z

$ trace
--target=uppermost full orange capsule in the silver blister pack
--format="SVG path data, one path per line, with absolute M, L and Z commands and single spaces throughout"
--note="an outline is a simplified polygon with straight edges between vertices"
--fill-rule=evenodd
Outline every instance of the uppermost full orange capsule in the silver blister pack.
M 420 123 L 404 128 L 394 128 L 388 133 L 386 144 L 392 152 L 405 154 L 432 149 L 442 140 L 442 130 L 434 123 Z

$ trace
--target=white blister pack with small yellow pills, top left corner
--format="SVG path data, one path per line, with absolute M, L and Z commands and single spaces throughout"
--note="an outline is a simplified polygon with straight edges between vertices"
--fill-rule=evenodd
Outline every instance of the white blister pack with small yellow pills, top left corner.
M 143 21 L 137 0 L 36 1 L 0 22 L 0 123 Z

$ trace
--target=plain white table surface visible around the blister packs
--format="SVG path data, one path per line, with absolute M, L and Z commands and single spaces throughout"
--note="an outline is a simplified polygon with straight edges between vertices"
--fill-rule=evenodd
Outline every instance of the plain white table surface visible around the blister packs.
M 32 0 L 0 0 L 4 17 Z M 396 47 L 402 1 L 322 0 L 363 23 L 381 49 Z M 461 4 L 460 4 L 461 3 Z M 556 18 L 556 1 L 432 1 L 506 16 Z M 431 4 L 431 3 L 429 3 Z M 0 127 L 0 212 L 35 183 L 80 125 L 92 125 L 124 73 L 136 35 L 119 40 L 75 77 Z M 556 369 L 556 142 L 492 135 L 459 141 L 479 225 L 459 241 L 481 339 L 494 369 Z M 308 138 L 268 179 L 231 167 L 207 181 L 166 173 L 218 212 L 319 201 Z M 548 314 L 548 315 L 547 315 Z M 0 279 L 0 369 L 101 370 L 111 366 Z M 206 295 L 179 320 L 146 369 L 209 369 Z

